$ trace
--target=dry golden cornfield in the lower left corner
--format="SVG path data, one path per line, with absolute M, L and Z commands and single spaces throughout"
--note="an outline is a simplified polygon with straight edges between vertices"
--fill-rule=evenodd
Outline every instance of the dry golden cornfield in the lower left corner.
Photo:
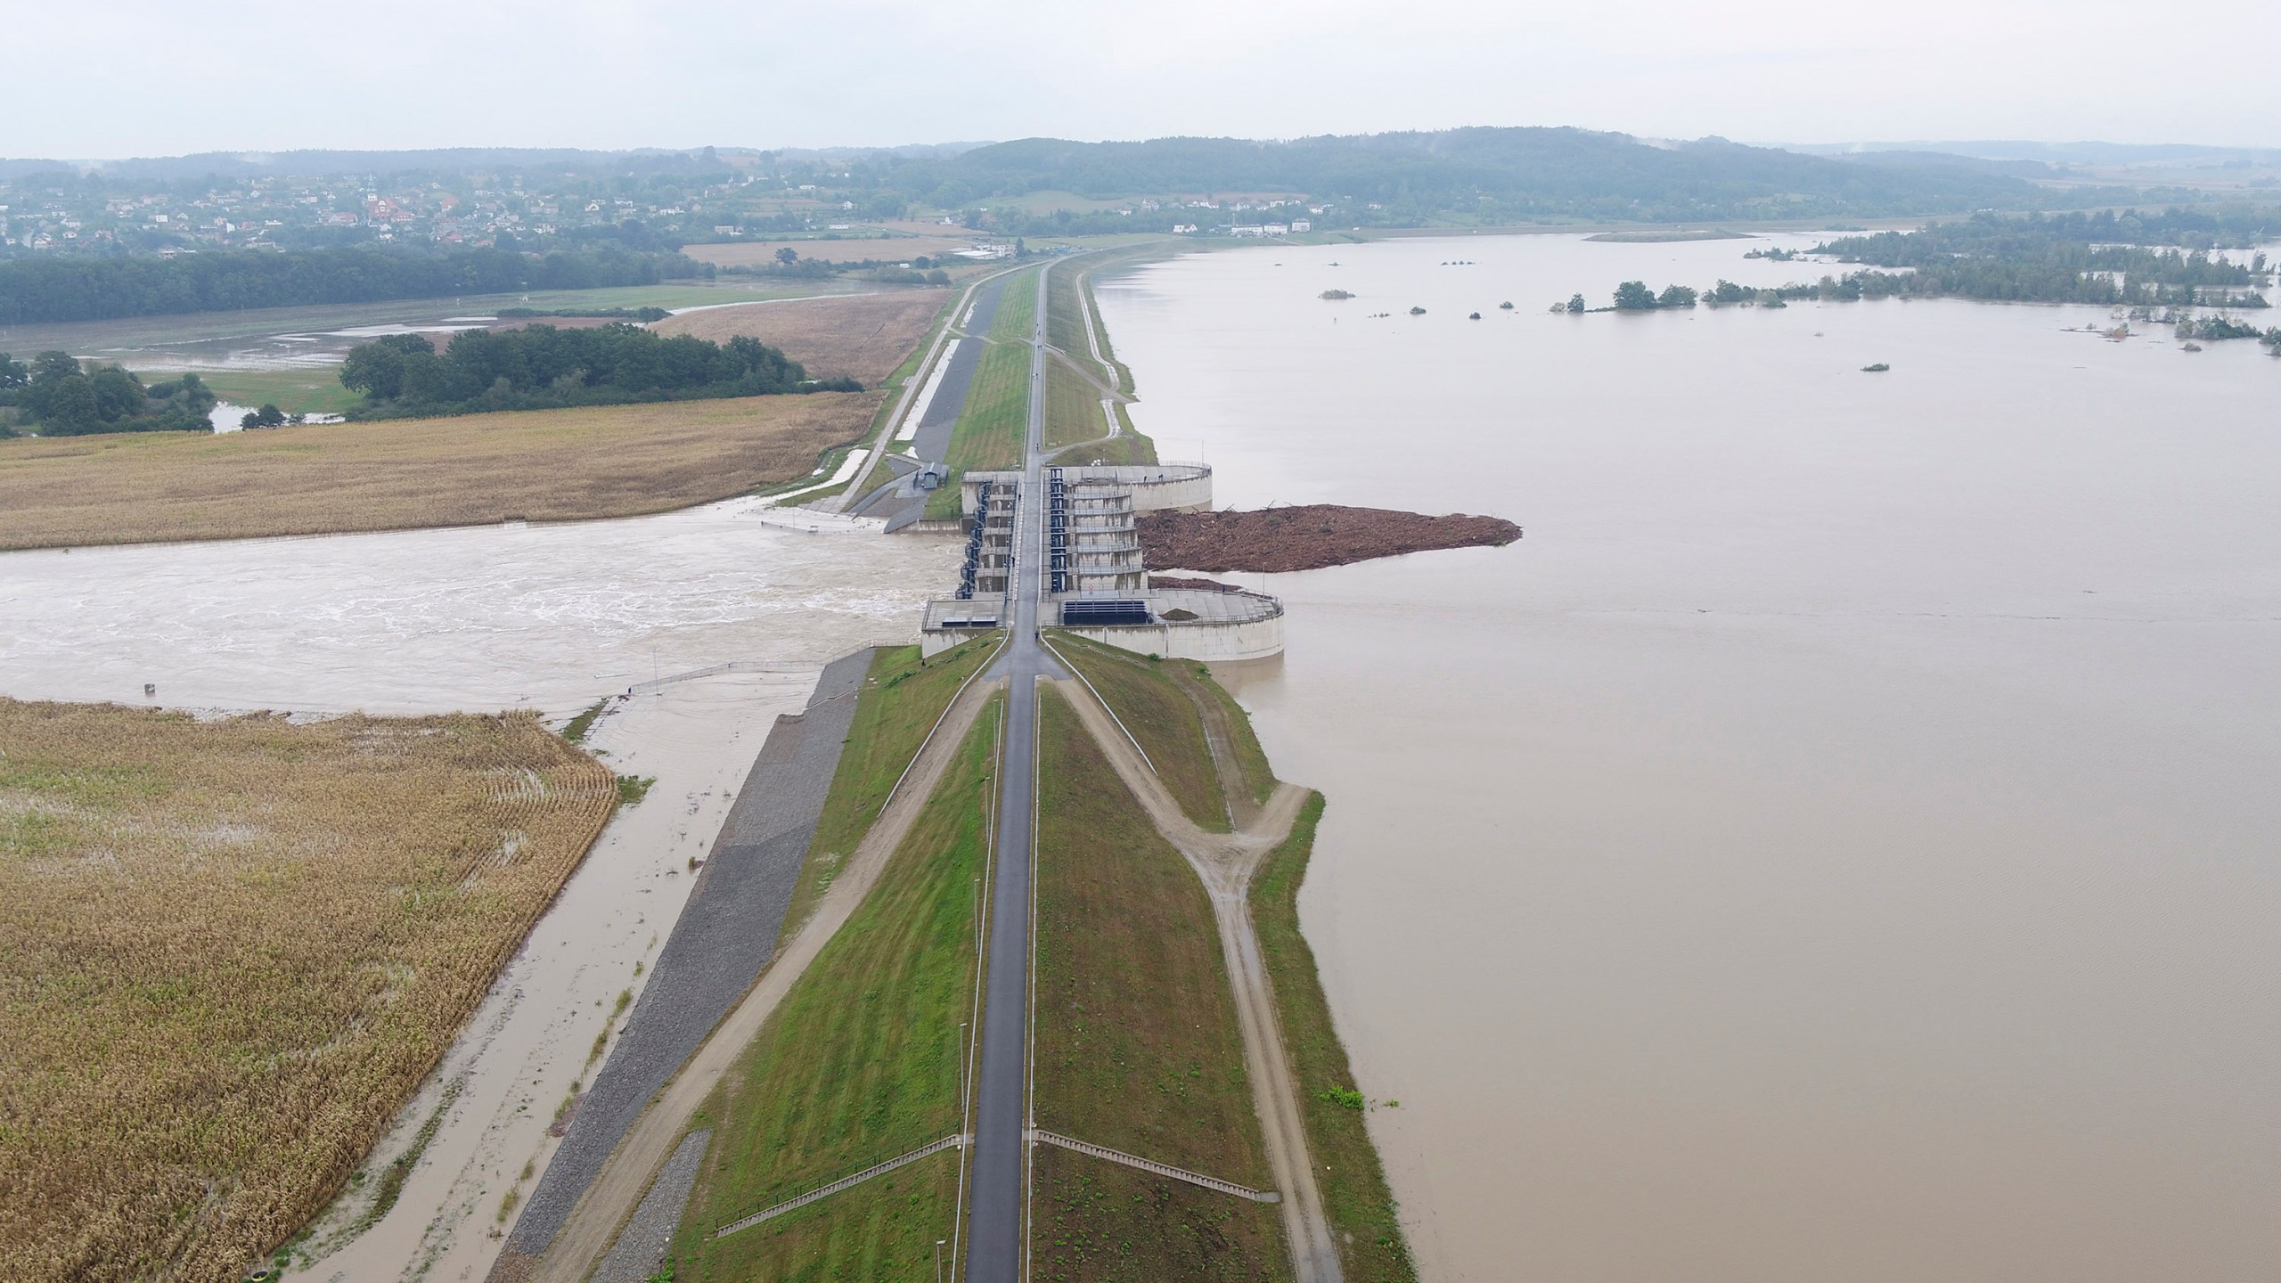
M 0 1278 L 240 1278 L 342 1187 L 614 804 L 527 712 L 0 699 Z

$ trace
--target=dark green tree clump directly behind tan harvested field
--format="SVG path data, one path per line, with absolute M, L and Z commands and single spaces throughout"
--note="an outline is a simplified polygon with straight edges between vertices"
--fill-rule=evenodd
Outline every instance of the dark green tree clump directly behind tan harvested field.
M 862 390 L 853 379 L 810 379 L 755 338 L 664 338 L 634 324 L 470 329 L 440 354 L 417 333 L 395 333 L 351 347 L 340 381 L 365 395 L 354 418 Z

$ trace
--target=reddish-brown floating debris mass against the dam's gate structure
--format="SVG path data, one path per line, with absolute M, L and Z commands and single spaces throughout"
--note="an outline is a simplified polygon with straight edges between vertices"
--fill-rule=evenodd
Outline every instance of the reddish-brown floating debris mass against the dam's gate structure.
M 1501 548 L 1521 527 L 1501 516 L 1426 516 L 1382 507 L 1302 505 L 1261 511 L 1152 511 L 1138 521 L 1152 571 L 1321 571 L 1435 548 Z

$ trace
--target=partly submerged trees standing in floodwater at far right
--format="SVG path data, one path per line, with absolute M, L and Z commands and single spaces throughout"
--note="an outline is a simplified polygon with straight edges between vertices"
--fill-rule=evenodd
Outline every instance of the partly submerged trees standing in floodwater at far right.
M 2137 224 L 2137 228 L 2133 228 Z M 2007 219 L 1973 215 L 1955 224 L 1932 224 L 1911 233 L 1852 235 L 1818 244 L 1843 263 L 1898 267 L 1907 272 L 1854 272 L 1838 297 L 1884 299 L 1959 297 L 2019 304 L 2142 304 L 2194 306 L 2233 301 L 2260 308 L 2247 290 L 2265 276 L 2265 256 L 2247 267 L 2213 258 L 2201 249 L 2149 249 L 2121 244 L 2130 235 L 2181 235 L 2176 219 L 2156 219 L 2149 233 L 2130 215 L 2064 215 Z M 2117 242 L 2101 242 L 2114 235 Z

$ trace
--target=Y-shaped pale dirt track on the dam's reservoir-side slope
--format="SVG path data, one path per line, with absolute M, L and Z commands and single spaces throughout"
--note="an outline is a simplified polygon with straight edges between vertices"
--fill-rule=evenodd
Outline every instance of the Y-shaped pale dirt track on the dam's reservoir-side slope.
M 1341 1283 L 1339 1251 L 1323 1215 L 1323 1192 L 1307 1155 L 1307 1128 L 1300 1114 L 1298 1082 L 1284 1052 L 1282 1023 L 1275 1016 L 1275 991 L 1266 961 L 1259 957 L 1259 934 L 1252 929 L 1250 883 L 1268 852 L 1291 836 L 1307 790 L 1277 783 L 1266 806 L 1234 833 L 1209 833 L 1179 808 L 1140 751 L 1115 726 L 1109 710 L 1079 680 L 1054 683 L 1077 710 L 1118 778 L 1147 810 L 1150 822 L 1204 881 L 1211 915 L 1220 927 L 1220 950 L 1227 954 L 1227 977 L 1236 993 L 1236 1025 L 1243 1032 L 1243 1062 L 1252 1078 L 1252 1107 L 1268 1148 L 1268 1169 L 1284 1194 L 1284 1233 L 1291 1240 L 1291 1265 L 1298 1283 Z M 1241 781 L 1227 781 L 1229 790 Z

